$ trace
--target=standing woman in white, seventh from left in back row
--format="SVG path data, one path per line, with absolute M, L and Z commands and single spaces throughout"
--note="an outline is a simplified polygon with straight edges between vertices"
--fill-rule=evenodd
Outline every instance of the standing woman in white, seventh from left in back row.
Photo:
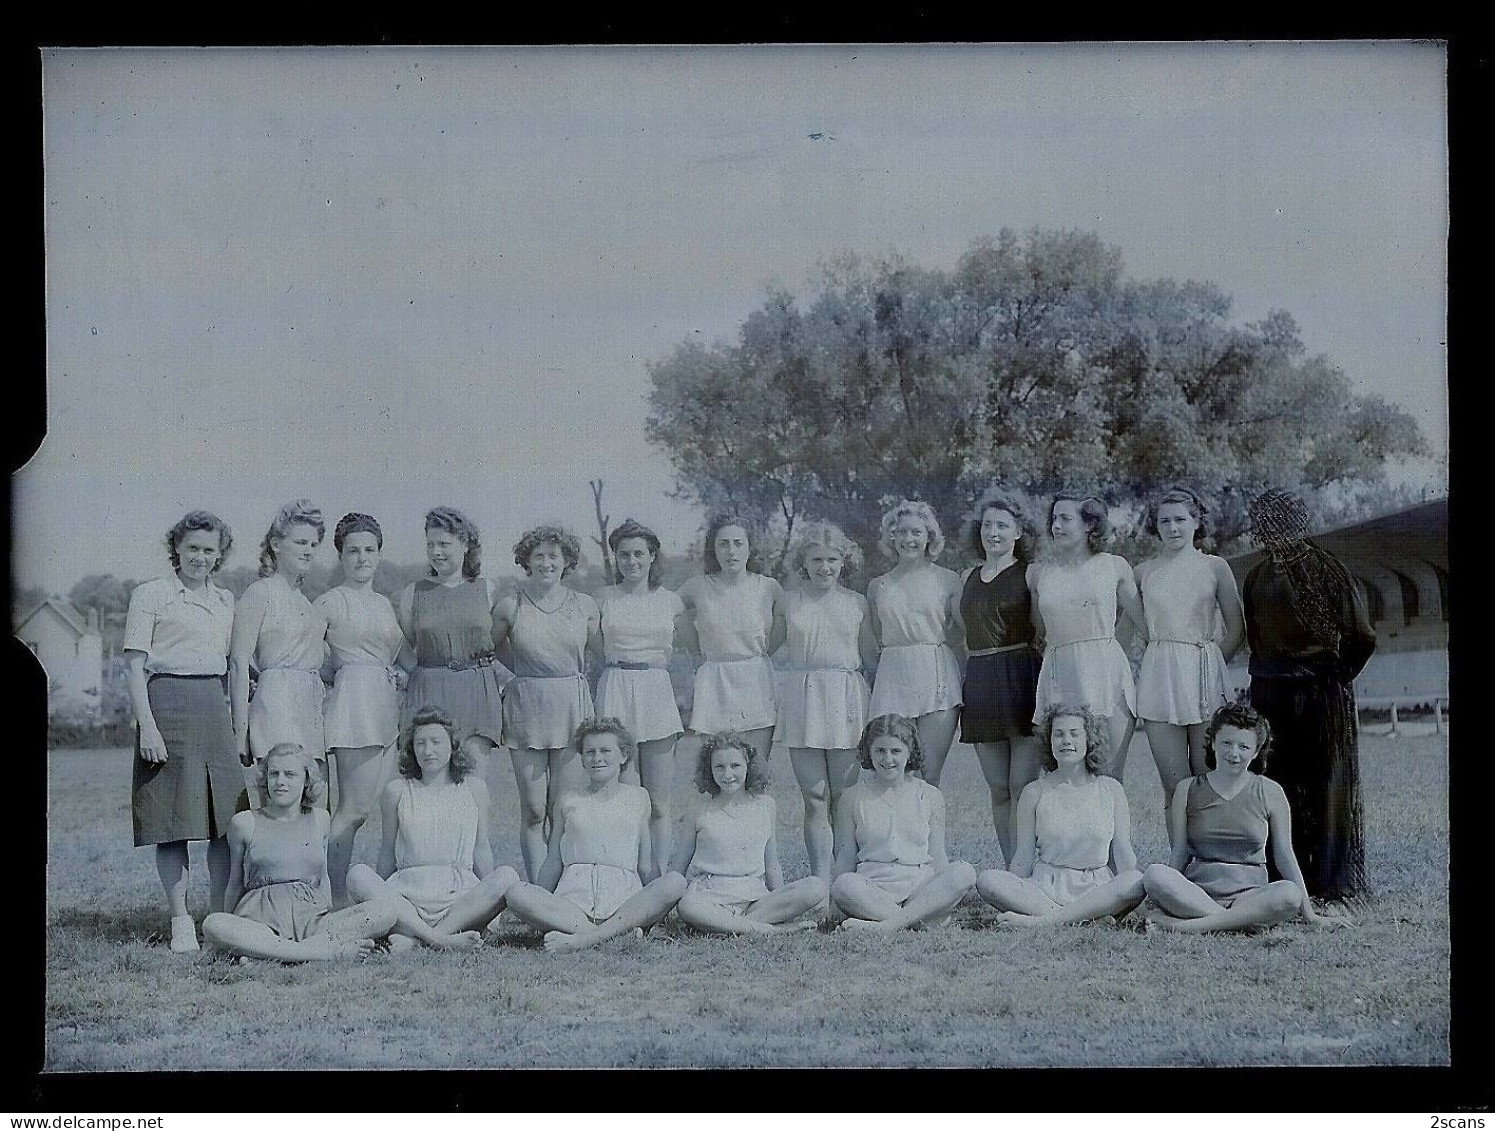
M 745 518 L 718 514 L 706 527 L 703 572 L 680 586 L 688 638 L 703 657 L 695 669 L 691 729 L 736 731 L 764 759 L 779 708 L 773 663 L 783 644 L 783 589 L 756 572 Z

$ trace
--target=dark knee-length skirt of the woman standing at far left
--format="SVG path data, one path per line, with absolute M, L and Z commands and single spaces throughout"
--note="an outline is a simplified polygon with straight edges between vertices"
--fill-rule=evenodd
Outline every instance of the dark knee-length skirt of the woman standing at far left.
M 136 728 L 135 843 L 226 837 L 244 793 L 244 771 L 223 677 L 152 675 L 145 693 L 166 743 L 166 760 L 141 759 Z

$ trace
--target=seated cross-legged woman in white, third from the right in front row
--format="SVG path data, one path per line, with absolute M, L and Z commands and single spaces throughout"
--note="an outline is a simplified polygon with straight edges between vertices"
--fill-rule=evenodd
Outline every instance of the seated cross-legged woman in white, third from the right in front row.
M 901 714 L 879 714 L 860 752 L 872 780 L 848 789 L 836 811 L 831 899 L 848 916 L 842 926 L 939 923 L 970 892 L 976 870 L 945 855 L 945 798 L 913 777 L 924 765 L 918 729 Z

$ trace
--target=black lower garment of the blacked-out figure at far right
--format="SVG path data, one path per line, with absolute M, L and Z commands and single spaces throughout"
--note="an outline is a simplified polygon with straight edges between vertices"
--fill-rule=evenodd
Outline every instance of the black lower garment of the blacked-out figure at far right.
M 1357 895 L 1365 889 L 1365 828 L 1354 689 L 1332 675 L 1253 675 L 1251 707 L 1272 725 L 1266 775 L 1287 795 L 1308 893 Z

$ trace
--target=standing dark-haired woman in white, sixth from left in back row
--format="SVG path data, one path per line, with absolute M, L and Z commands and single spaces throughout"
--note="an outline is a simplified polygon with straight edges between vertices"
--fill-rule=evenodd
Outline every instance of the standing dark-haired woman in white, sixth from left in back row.
M 655 867 L 670 865 L 670 790 L 674 746 L 685 726 L 670 683 L 676 625 L 685 616 L 680 595 L 659 587 L 659 538 L 647 526 L 625 521 L 607 536 L 613 580 L 597 595 L 602 628 L 602 674 L 597 680 L 598 719 L 617 719 L 638 743 L 625 781 L 649 790 L 649 838 Z

